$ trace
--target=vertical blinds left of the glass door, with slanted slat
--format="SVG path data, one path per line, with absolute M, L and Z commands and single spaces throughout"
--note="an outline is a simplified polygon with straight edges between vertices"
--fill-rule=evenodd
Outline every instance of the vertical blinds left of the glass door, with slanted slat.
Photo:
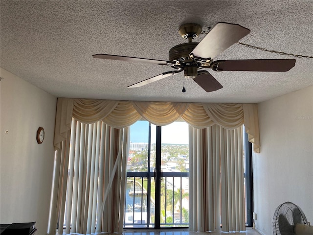
M 102 121 L 72 120 L 70 141 L 63 141 L 57 158 L 58 221 L 50 225 L 51 234 L 56 222 L 58 234 L 122 231 L 125 195 L 120 192 L 126 182 L 128 132 L 129 128 L 115 129 Z

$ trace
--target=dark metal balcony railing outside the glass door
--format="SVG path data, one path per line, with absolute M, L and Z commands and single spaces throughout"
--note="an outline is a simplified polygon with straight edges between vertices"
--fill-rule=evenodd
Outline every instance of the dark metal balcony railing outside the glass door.
M 153 228 L 155 224 L 154 178 L 134 176 L 138 172 L 127 172 L 124 228 Z M 130 176 L 131 175 L 131 176 Z M 149 191 L 150 189 L 150 191 Z M 188 173 L 163 173 L 160 193 L 161 227 L 188 227 Z

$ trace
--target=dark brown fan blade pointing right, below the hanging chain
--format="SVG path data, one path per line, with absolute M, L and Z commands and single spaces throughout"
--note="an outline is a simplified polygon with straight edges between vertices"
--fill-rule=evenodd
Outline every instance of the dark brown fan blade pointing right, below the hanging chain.
M 295 65 L 295 59 L 271 60 L 220 60 L 211 65 L 215 71 L 265 71 L 285 72 Z

